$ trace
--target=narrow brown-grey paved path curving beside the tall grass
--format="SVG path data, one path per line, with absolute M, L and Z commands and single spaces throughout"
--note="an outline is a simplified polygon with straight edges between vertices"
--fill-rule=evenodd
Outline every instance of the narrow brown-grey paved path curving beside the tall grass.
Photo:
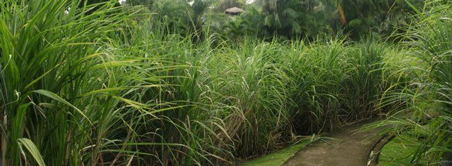
M 380 138 L 373 137 L 376 136 L 377 130 L 364 133 L 356 133 L 356 130 L 371 122 L 373 121 L 367 120 L 344 126 L 327 135 L 328 138 L 337 140 L 328 139 L 326 140 L 328 144 L 325 142 L 310 144 L 289 158 L 284 165 L 366 166 L 369 153 Z

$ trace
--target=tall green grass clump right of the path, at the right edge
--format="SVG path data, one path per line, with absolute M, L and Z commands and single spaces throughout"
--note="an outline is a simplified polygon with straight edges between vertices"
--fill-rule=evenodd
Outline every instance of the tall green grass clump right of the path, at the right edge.
M 392 125 L 389 131 L 396 134 L 419 131 L 414 139 L 422 143 L 409 158 L 413 165 L 451 163 L 451 8 L 450 1 L 438 0 L 416 9 L 419 24 L 403 36 L 414 63 L 395 72 L 411 78 L 385 93 L 381 105 L 394 107 L 389 119 L 374 125 Z

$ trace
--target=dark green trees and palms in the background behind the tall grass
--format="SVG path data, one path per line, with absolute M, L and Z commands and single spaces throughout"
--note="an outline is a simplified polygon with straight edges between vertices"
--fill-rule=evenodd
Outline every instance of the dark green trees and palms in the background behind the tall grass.
M 171 13 L 171 11 L 177 10 L 188 13 L 188 15 L 182 15 L 180 12 L 177 13 L 179 15 L 167 13 L 170 20 L 185 20 L 179 26 L 199 24 L 198 19 L 204 15 L 202 17 L 203 24 L 217 26 L 213 31 L 210 28 L 204 28 L 204 31 L 220 33 L 228 38 L 240 38 L 240 35 L 246 34 L 259 38 L 279 35 L 286 38 L 307 38 L 309 40 L 314 40 L 316 36 L 324 33 L 330 35 L 344 33 L 354 40 L 360 40 L 363 36 L 380 39 L 392 36 L 393 33 L 404 33 L 404 28 L 410 26 L 413 21 L 410 16 L 410 13 L 414 13 L 412 6 L 415 8 L 423 6 L 421 0 L 257 0 L 248 6 L 235 0 L 163 0 L 156 2 L 164 4 L 164 7 L 162 5 L 152 7 L 154 10 L 158 10 L 156 13 L 159 11 Z M 152 6 L 150 4 L 154 1 L 130 1 L 129 3 Z M 207 6 L 210 7 L 207 8 Z M 248 9 L 240 17 L 227 22 L 224 22 L 224 19 L 211 17 L 213 13 L 223 13 L 226 8 L 231 7 Z M 182 28 L 179 34 L 186 34 L 184 29 Z M 200 29 L 198 26 L 197 30 Z M 239 33 L 239 35 L 231 35 L 231 33 Z

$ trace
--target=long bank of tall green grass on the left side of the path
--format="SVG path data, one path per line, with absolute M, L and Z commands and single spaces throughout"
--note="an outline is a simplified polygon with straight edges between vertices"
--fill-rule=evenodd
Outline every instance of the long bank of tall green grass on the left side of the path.
M 234 165 L 384 114 L 410 79 L 379 42 L 200 42 L 114 1 L 0 2 L 2 165 Z

